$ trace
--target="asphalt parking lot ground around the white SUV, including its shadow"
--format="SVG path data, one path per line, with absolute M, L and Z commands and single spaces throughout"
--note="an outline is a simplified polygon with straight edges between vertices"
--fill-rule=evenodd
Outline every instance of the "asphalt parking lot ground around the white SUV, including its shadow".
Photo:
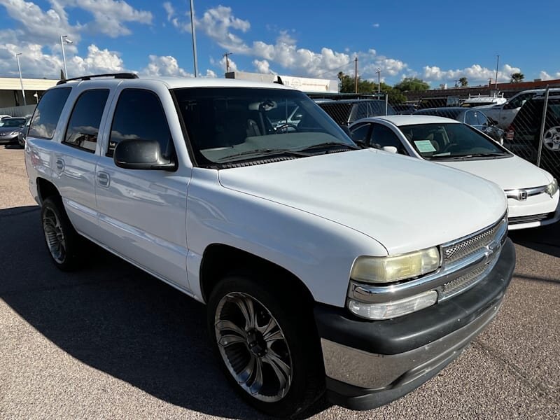
M 0 419 L 255 419 L 209 351 L 204 306 L 92 247 L 51 264 L 24 151 L 0 146 Z M 319 402 L 316 419 L 560 419 L 560 225 L 513 232 L 517 267 L 490 327 L 390 405 Z

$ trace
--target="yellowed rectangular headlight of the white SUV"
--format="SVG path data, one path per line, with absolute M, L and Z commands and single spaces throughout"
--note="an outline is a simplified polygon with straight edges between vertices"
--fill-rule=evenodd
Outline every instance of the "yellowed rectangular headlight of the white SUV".
M 440 253 L 433 248 L 388 257 L 358 257 L 351 278 L 367 283 L 390 283 L 421 276 L 440 267 Z

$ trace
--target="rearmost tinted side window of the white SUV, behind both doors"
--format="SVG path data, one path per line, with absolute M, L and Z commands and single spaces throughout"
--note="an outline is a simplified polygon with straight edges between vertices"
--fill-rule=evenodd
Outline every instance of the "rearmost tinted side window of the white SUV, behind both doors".
M 70 91 L 71 87 L 60 87 L 43 94 L 29 126 L 29 137 L 52 139 Z

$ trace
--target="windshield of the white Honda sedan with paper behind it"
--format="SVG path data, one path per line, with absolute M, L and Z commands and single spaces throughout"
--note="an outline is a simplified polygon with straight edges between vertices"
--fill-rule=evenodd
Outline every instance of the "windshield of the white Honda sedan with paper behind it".
M 465 124 L 417 124 L 399 127 L 409 144 L 427 160 L 506 157 L 510 153 Z

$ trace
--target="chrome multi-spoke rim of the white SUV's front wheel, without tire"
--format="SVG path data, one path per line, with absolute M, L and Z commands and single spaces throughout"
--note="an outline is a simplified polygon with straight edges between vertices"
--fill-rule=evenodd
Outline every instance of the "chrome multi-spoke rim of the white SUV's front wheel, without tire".
M 225 365 L 248 394 L 275 402 L 288 393 L 290 348 L 265 305 L 246 293 L 228 293 L 216 308 L 214 330 Z

